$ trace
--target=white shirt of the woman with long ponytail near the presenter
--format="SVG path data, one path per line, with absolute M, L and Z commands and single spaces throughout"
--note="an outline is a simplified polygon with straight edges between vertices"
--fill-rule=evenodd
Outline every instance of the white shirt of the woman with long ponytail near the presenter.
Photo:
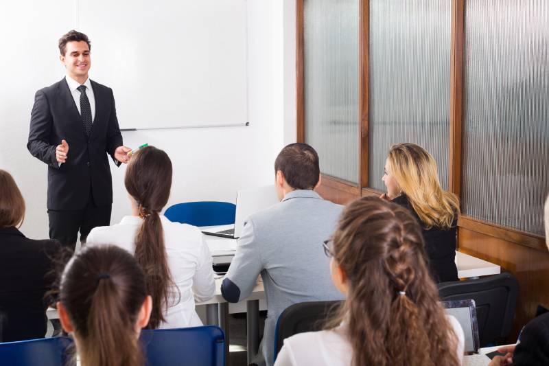
M 215 293 L 210 251 L 197 227 L 171 222 L 165 216 L 160 216 L 160 220 L 164 229 L 168 268 L 181 299 L 178 304 L 170 304 L 164 314 L 166 321 L 159 328 L 202 325 L 194 309 L 194 301 L 209 300 Z M 117 225 L 95 227 L 89 233 L 86 245 L 113 244 L 134 255 L 134 240 L 142 222 L 137 216 L 125 216 Z M 170 292 L 177 294 L 177 290 Z

